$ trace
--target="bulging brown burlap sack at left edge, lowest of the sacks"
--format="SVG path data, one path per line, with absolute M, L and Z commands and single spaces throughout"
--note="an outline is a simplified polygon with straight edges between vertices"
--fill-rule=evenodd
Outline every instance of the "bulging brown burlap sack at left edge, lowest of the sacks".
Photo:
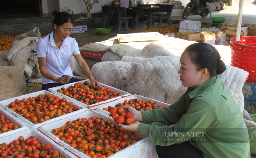
M 0 66 L 0 101 L 23 94 L 25 76 L 20 66 Z

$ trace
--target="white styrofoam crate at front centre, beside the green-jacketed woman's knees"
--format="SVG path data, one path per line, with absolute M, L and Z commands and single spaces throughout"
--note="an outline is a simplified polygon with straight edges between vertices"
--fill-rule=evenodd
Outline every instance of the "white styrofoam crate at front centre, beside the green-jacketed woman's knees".
M 62 141 L 59 138 L 57 138 L 56 136 L 54 136 L 51 133 L 51 131 L 54 128 L 59 128 L 63 125 L 66 125 L 67 121 L 73 121 L 78 118 L 89 119 L 92 116 L 94 116 L 96 118 L 102 118 L 104 121 L 110 120 L 113 125 L 116 125 L 114 120 L 112 118 L 110 118 L 109 116 L 103 115 L 100 112 L 92 110 L 92 111 L 85 111 L 83 113 L 79 113 L 72 117 L 58 120 L 58 121 L 53 122 L 48 125 L 41 126 L 38 128 L 38 130 L 41 131 L 42 133 L 44 133 L 45 135 L 47 135 L 48 137 L 50 137 L 56 143 L 67 148 L 70 152 L 75 154 L 77 157 L 88 158 L 88 156 L 86 156 L 85 154 L 79 152 L 78 150 L 76 150 L 73 147 L 70 147 L 64 141 Z M 134 157 L 138 157 L 138 155 L 140 155 L 139 157 L 147 157 L 148 156 L 150 158 L 155 158 L 156 157 L 156 146 L 151 144 L 149 142 L 148 137 L 146 137 L 145 135 L 140 134 L 140 133 L 135 133 L 135 134 L 139 135 L 139 137 L 142 139 L 140 141 L 130 145 L 129 147 L 126 147 L 123 150 L 120 150 L 116 154 L 109 156 L 109 158 L 114 158 L 114 157 L 116 158 L 116 157 L 119 157 L 120 155 L 124 155 L 124 154 L 125 154 L 125 158 L 134 158 Z

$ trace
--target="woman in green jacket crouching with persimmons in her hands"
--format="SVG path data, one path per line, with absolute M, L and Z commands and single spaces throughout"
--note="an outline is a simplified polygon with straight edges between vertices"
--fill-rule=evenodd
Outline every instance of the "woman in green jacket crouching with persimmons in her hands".
M 209 44 L 195 43 L 182 53 L 180 64 L 186 93 L 169 107 L 137 111 L 123 106 L 134 119 L 152 125 L 136 121 L 119 126 L 147 135 L 159 158 L 249 158 L 243 114 L 217 76 L 226 70 L 219 52 Z

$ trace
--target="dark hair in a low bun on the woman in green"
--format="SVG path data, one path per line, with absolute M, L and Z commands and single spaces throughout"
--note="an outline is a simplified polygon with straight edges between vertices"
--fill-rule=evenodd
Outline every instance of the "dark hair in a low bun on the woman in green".
M 196 65 L 197 71 L 207 68 L 210 76 L 220 75 L 226 70 L 226 65 L 220 60 L 220 53 L 215 47 L 207 43 L 194 43 L 184 52 L 190 55 L 191 61 Z

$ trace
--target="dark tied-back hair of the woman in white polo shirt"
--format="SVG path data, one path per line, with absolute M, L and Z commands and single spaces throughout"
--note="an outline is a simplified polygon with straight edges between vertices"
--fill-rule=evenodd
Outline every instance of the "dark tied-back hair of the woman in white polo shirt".
M 53 11 L 52 12 L 52 26 L 54 26 L 54 24 L 61 26 L 67 22 L 70 22 L 72 25 L 74 25 L 74 20 L 73 18 L 67 14 L 67 13 L 63 13 L 63 12 L 59 12 L 59 11 Z

